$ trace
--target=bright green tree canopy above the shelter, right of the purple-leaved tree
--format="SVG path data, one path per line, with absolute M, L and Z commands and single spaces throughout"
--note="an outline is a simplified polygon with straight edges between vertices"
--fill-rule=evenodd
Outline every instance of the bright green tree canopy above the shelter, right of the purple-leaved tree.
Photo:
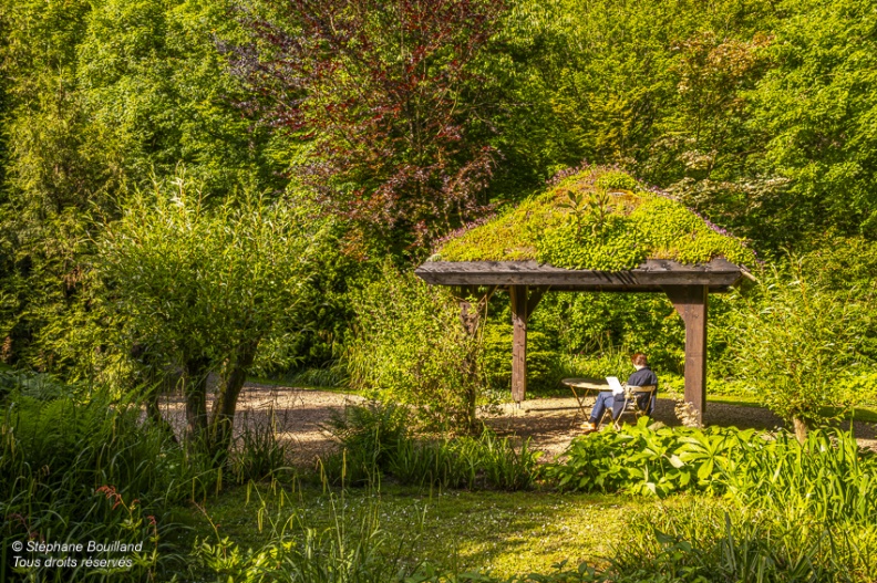
M 584 158 L 623 165 L 762 249 L 865 233 L 873 8 L 519 2 L 491 55 L 509 103 L 496 187 Z

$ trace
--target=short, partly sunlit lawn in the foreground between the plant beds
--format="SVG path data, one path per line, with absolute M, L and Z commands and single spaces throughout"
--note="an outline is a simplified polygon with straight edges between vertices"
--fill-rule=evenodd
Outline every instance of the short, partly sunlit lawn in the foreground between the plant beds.
M 258 489 L 258 493 L 256 490 Z M 243 548 L 259 548 L 270 537 L 268 517 L 285 521 L 297 513 L 301 525 L 322 530 L 343 514 L 350 524 L 365 512 L 379 512 L 381 530 L 411 544 L 411 562 L 426 561 L 452 571 L 489 570 L 496 575 L 551 571 L 564 560 L 578 564 L 600 561 L 625 529 L 625 517 L 653 500 L 627 496 L 561 494 L 554 492 L 445 491 L 384 485 L 380 492 L 349 489 L 326 492 L 319 487 L 287 491 L 280 498 L 266 486 L 237 488 L 208 506 L 220 537 Z M 259 528 L 260 498 L 267 512 Z M 664 502 L 669 508 L 684 497 Z M 291 503 L 290 503 L 291 501 Z M 375 502 L 378 502 L 375 504 Z M 182 509 L 177 520 L 202 538 L 215 538 L 206 517 Z

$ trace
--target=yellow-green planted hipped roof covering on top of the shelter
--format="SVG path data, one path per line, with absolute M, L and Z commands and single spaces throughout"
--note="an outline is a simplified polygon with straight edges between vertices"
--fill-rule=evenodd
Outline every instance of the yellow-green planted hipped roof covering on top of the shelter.
M 588 168 L 450 239 L 433 261 L 536 260 L 564 269 L 623 271 L 647 259 L 751 266 L 744 241 L 629 175 Z

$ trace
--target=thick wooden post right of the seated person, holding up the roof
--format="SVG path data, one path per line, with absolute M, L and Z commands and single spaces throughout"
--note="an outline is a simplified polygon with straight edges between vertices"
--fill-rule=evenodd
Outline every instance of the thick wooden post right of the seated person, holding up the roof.
M 698 412 L 703 424 L 706 410 L 706 309 L 710 291 L 705 285 L 667 285 L 664 292 L 685 323 L 685 402 Z

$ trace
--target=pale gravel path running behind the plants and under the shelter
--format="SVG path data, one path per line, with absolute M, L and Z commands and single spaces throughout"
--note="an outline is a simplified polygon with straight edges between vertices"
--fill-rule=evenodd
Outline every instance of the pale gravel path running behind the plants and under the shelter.
M 334 441 L 322 426 L 333 412 L 342 412 L 363 399 L 357 395 L 326 391 L 279 387 L 248 383 L 240 395 L 235 430 L 239 435 L 245 426 L 265 427 L 274 423 L 277 435 L 291 447 L 292 462 L 310 466 L 317 456 L 331 451 Z M 168 396 L 162 408 L 165 417 L 182 434 L 185 426 L 184 405 L 179 396 Z M 659 398 L 653 417 L 667 425 L 679 425 L 673 414 L 673 402 Z M 522 405 L 508 404 L 499 415 L 485 419 L 499 435 L 529 437 L 530 446 L 546 452 L 543 460 L 560 455 L 569 441 L 580 435 L 584 419 L 574 398 L 539 398 Z M 767 409 L 709 403 L 704 420 L 708 425 L 740 428 L 774 429 L 782 420 Z M 877 426 L 856 421 L 854 431 L 863 447 L 877 449 Z

